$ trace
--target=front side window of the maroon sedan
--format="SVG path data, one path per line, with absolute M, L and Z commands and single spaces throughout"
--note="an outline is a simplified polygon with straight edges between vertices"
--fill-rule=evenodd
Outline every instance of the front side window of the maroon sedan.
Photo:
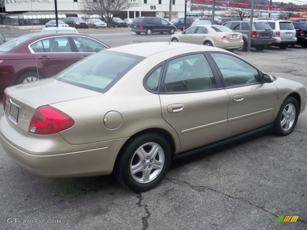
M 72 40 L 76 44 L 77 52 L 98 52 L 107 48 L 100 42 L 88 37 L 72 36 Z

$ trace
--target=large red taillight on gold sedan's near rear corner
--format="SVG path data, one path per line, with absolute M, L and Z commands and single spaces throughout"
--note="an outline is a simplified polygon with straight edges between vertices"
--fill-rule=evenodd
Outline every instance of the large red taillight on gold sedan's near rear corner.
M 75 121 L 66 113 L 44 105 L 39 107 L 29 125 L 29 132 L 39 135 L 53 134 L 72 127 Z

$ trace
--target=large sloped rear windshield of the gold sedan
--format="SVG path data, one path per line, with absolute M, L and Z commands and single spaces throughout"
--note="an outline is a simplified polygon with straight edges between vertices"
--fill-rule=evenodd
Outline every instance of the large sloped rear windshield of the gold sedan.
M 145 57 L 99 52 L 83 59 L 55 76 L 56 80 L 104 93 Z

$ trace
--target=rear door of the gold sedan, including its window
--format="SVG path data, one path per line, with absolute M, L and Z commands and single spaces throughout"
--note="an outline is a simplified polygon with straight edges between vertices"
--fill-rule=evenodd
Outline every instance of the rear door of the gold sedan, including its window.
M 180 151 L 224 138 L 229 95 L 220 87 L 204 54 L 166 63 L 160 101 L 162 117 L 179 136 Z

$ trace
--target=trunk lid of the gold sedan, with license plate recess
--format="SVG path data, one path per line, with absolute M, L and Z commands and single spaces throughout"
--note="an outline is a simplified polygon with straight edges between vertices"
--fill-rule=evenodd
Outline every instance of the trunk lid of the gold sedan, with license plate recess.
M 101 93 L 55 79 L 45 79 L 6 88 L 5 94 L 6 101 L 4 103 L 6 103 L 5 116 L 7 120 L 18 132 L 27 135 L 30 121 L 38 107 L 93 97 Z

